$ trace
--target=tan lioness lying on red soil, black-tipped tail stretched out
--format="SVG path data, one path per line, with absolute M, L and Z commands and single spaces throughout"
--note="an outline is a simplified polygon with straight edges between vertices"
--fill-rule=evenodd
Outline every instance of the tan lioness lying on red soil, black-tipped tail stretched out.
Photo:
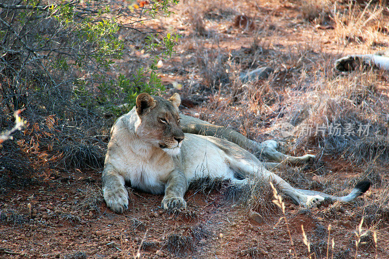
M 276 161 L 287 159 L 296 164 L 314 156 L 283 155 L 275 151 L 274 142 L 258 144 L 228 128 L 180 115 L 180 102 L 177 93 L 168 100 L 141 93 L 136 106 L 112 126 L 102 181 L 104 199 L 113 211 L 122 213 L 128 208 L 125 181 L 137 189 L 165 193 L 162 199 L 165 209 L 186 207 L 183 197 L 189 182 L 204 176 L 223 177 L 236 185 L 247 184 L 249 177 L 273 181 L 294 202 L 303 206 L 318 205 L 325 197 L 349 202 L 370 187 L 369 182 L 360 183 L 349 195 L 342 197 L 295 189 L 239 145 L 222 138 L 184 134 L 182 129 L 230 138 L 255 152 L 263 148 L 264 154 Z M 183 128 L 180 118 L 184 118 Z

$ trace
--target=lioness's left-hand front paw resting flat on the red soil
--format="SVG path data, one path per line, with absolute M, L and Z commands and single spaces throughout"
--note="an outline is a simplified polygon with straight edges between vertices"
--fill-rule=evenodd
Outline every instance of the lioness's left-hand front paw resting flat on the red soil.
M 116 213 L 123 213 L 128 209 L 128 193 L 124 186 L 119 188 L 104 188 L 103 196 L 106 205 Z

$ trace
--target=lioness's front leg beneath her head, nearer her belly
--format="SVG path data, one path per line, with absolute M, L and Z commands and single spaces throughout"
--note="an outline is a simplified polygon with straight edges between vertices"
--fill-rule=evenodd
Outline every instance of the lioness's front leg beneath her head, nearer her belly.
M 184 194 L 188 189 L 188 182 L 184 173 L 175 170 L 170 174 L 166 184 L 165 196 L 162 199 L 162 208 L 179 209 L 186 208 Z

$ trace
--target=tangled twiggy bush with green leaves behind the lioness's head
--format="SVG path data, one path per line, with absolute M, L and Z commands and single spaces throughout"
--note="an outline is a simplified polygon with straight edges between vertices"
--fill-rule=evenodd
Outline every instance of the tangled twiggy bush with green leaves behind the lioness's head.
M 91 114 L 125 112 L 140 92 L 164 91 L 156 64 L 171 55 L 177 36 L 157 41 L 158 33 L 144 21 L 168 15 L 175 3 L 142 8 L 114 0 L 0 3 L 1 106 L 8 113 L 24 107 L 85 121 Z M 145 50 L 148 60 L 138 58 L 136 49 Z M 118 72 L 125 66 L 125 73 Z

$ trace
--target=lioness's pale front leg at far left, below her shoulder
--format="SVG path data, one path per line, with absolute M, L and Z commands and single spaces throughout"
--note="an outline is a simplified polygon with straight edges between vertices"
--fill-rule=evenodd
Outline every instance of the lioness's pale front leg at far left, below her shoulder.
M 117 213 L 128 208 L 128 193 L 124 187 L 124 177 L 108 167 L 103 171 L 103 196 L 107 207 Z

